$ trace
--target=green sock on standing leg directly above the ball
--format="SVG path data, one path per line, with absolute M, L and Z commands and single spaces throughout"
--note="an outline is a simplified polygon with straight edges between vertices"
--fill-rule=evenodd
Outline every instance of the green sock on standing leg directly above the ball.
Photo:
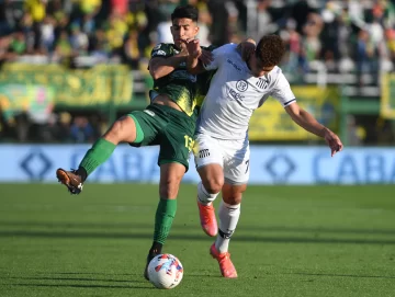
M 155 215 L 154 242 L 165 243 L 177 212 L 177 199 L 159 199 Z

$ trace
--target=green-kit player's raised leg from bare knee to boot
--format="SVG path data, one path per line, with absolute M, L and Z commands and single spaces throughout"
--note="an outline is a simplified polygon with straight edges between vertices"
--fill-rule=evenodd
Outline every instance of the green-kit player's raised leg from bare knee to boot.
M 131 116 L 121 117 L 87 151 L 77 170 L 67 171 L 61 168 L 56 170 L 58 181 L 66 185 L 71 194 L 81 193 L 88 175 L 111 157 L 120 142 L 133 142 L 136 140 L 136 135 L 134 119 Z

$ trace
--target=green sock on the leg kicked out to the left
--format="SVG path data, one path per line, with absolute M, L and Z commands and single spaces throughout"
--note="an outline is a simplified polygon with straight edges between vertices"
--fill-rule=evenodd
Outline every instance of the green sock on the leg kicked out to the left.
M 91 174 L 99 165 L 110 158 L 115 147 L 116 146 L 113 142 L 108 141 L 104 138 L 99 138 L 92 148 L 87 151 L 79 167 L 86 170 L 87 175 Z

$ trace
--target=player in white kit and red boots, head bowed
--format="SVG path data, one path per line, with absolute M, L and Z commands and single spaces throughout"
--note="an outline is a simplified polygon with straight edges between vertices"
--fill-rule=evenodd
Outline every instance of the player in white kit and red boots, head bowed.
M 198 205 L 203 230 L 212 237 L 218 232 L 210 253 L 218 261 L 222 275 L 235 278 L 237 272 L 228 245 L 249 179 L 248 124 L 252 112 L 272 96 L 297 125 L 323 137 L 331 156 L 342 149 L 342 144 L 336 134 L 297 105 L 290 83 L 276 66 L 285 52 L 279 36 L 262 37 L 246 60 L 235 44 L 218 47 L 213 52 L 213 61 L 205 66 L 199 61 L 202 54 L 199 41 L 185 43 L 190 72 L 216 69 L 195 136 L 194 157 L 202 180 L 198 185 Z M 221 191 L 218 228 L 212 203 Z

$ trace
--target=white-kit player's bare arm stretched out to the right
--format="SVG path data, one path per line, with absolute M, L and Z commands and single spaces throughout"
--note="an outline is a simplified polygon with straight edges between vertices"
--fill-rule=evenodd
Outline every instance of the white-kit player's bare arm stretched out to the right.
M 319 124 L 312 114 L 303 110 L 296 102 L 285 106 L 286 113 L 291 118 L 305 130 L 323 137 L 331 150 L 331 156 L 342 150 L 343 145 L 340 138 L 329 128 Z

